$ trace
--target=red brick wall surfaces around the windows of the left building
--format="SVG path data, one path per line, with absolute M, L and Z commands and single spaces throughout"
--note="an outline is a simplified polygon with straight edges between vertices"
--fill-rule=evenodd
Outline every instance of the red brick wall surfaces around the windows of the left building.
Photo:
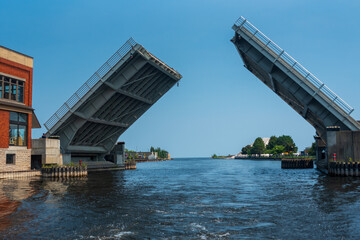
M 10 74 L 15 77 L 24 78 L 25 89 L 24 89 L 24 103 L 27 106 L 32 106 L 32 77 L 33 69 L 22 64 L 18 64 L 7 59 L 0 57 L 0 72 Z M 9 112 L 0 110 L 0 148 L 9 147 Z M 3 114 L 3 115 L 2 115 Z M 28 117 L 28 134 L 27 134 L 27 145 L 31 148 L 31 117 Z

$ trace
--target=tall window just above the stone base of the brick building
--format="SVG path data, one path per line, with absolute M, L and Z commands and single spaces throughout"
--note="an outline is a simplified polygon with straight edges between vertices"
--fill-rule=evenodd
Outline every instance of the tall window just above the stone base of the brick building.
M 26 146 L 28 116 L 10 112 L 9 145 Z

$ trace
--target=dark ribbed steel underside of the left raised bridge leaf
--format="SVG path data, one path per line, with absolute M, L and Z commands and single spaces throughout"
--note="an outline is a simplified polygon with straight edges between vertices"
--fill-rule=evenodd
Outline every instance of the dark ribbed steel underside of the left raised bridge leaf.
M 63 153 L 108 153 L 119 136 L 180 80 L 181 75 L 169 73 L 144 53 L 132 52 L 53 132 L 60 136 Z

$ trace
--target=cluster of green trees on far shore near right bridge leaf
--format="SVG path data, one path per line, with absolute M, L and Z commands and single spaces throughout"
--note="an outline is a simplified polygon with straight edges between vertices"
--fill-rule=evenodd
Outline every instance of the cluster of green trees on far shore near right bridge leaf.
M 292 154 L 297 152 L 298 148 L 294 140 L 290 136 L 282 135 L 279 137 L 271 136 L 268 145 L 265 146 L 261 137 L 255 139 L 254 144 L 247 145 L 241 149 L 242 154 L 273 154 L 279 155 L 282 153 Z

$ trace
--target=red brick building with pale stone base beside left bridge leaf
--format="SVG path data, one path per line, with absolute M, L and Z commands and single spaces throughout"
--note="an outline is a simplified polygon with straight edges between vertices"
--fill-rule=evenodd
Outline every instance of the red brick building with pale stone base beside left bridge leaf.
M 0 172 L 31 168 L 33 58 L 0 46 Z

